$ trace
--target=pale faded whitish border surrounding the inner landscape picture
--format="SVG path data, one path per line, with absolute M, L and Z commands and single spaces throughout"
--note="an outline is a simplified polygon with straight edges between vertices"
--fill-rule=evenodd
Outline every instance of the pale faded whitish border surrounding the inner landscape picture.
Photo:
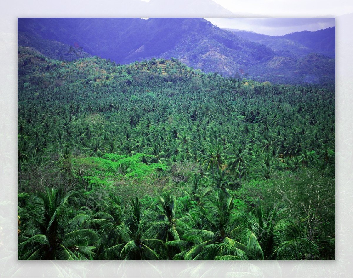
M 137 3 L 138 0 L 136 0 Z M 157 0 L 151 0 L 151 2 Z M 319 0 L 216 0 L 236 15 L 336 17 L 336 261 L 67 262 L 17 261 L 17 17 L 223 17 L 210 0 L 164 0 L 139 10 L 133 0 L 22 0 L 1 3 L 1 277 L 352 277 L 352 4 Z M 150 3 L 149 3 L 150 4 Z M 180 5 L 182 4 L 182 5 Z M 174 5 L 174 6 L 173 6 Z M 170 7 L 168 9 L 168 6 Z M 190 6 L 190 8 L 189 8 Z M 146 12 L 148 11 L 148 12 Z

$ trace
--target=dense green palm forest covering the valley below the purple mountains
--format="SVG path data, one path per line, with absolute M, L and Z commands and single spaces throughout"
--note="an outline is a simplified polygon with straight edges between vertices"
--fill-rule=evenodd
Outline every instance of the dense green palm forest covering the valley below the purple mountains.
M 334 260 L 335 87 L 18 49 L 19 260 Z

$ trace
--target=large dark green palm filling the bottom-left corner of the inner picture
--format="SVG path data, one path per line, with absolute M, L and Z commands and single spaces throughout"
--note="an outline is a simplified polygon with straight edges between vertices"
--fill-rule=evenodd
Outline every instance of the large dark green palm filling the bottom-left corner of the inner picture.
M 98 234 L 82 228 L 90 216 L 70 208 L 71 195 L 46 188 L 32 197 L 28 207 L 19 209 L 24 227 L 18 238 L 19 260 L 93 259 Z

